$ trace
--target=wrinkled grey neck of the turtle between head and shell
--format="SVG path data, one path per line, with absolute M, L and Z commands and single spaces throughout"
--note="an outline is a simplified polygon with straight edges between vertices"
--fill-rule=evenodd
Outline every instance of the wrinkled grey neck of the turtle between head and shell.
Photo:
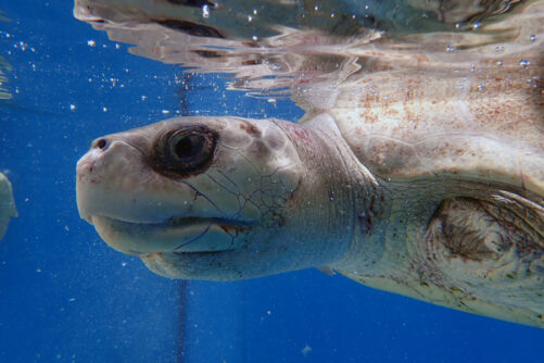
M 383 249 L 378 238 L 367 238 L 370 229 L 379 228 L 375 217 L 383 210 L 378 183 L 355 158 L 331 116 L 321 114 L 280 127 L 304 165 L 302 182 L 286 205 L 286 220 L 292 224 L 286 231 L 302 247 L 292 270 L 371 268 Z

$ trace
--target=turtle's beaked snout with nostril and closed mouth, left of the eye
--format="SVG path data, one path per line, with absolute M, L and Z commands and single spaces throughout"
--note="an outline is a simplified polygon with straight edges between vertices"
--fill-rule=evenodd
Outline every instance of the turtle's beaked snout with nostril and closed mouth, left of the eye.
M 237 248 L 240 228 L 256 221 L 239 211 L 238 200 L 213 199 L 155 173 L 132 139 L 109 136 L 106 147 L 97 143 L 77 164 L 79 214 L 102 239 L 129 254 Z

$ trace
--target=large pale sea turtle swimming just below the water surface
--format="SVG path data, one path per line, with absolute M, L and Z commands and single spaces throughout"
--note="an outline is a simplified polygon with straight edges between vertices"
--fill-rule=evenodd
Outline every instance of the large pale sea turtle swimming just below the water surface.
M 170 278 L 317 266 L 544 327 L 543 93 L 527 76 L 377 72 L 299 124 L 179 117 L 101 137 L 77 165 L 79 213 Z

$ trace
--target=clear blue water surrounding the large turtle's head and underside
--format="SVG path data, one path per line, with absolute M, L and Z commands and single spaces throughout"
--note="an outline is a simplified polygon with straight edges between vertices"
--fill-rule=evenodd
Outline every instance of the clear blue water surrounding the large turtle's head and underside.
M 0 55 L 14 93 L 0 104 L 0 171 L 20 213 L 0 242 L 0 362 L 544 361 L 542 329 L 341 276 L 176 281 L 112 250 L 75 202 L 75 164 L 93 138 L 176 114 L 302 112 L 224 97 L 225 76 L 187 77 L 130 55 L 74 20 L 66 1 L 0 9 L 12 20 L 0 23 Z

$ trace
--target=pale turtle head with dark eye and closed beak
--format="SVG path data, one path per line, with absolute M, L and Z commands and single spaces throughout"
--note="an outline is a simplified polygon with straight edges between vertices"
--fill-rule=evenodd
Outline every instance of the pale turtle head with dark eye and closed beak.
M 301 243 L 290 205 L 303 168 L 281 123 L 182 117 L 99 138 L 77 164 L 79 214 L 167 277 L 307 267 L 292 253 Z

